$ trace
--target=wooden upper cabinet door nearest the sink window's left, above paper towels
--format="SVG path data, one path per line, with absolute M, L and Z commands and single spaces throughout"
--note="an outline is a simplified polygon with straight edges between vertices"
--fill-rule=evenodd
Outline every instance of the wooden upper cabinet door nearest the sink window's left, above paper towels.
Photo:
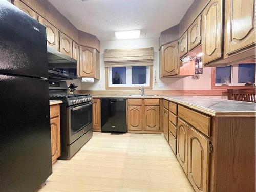
M 80 46 L 80 76 L 95 77 L 96 49 Z

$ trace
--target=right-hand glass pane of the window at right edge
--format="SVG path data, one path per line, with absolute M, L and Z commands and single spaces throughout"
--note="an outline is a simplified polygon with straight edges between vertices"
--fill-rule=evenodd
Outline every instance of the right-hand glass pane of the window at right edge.
M 255 63 L 238 65 L 238 83 L 255 82 Z

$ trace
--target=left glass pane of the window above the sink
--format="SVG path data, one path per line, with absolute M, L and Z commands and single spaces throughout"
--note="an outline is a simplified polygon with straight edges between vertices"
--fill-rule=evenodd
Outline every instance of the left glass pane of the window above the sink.
M 126 67 L 112 68 L 112 84 L 126 84 Z

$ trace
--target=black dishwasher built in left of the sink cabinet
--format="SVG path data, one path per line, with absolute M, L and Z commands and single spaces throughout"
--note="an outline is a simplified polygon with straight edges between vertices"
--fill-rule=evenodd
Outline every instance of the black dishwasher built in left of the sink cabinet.
M 101 98 L 101 132 L 126 133 L 125 98 Z

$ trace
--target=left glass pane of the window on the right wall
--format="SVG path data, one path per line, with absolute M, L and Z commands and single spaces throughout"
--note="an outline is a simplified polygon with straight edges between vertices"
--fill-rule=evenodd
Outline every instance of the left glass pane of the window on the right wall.
M 231 66 L 216 67 L 215 83 L 231 83 Z

